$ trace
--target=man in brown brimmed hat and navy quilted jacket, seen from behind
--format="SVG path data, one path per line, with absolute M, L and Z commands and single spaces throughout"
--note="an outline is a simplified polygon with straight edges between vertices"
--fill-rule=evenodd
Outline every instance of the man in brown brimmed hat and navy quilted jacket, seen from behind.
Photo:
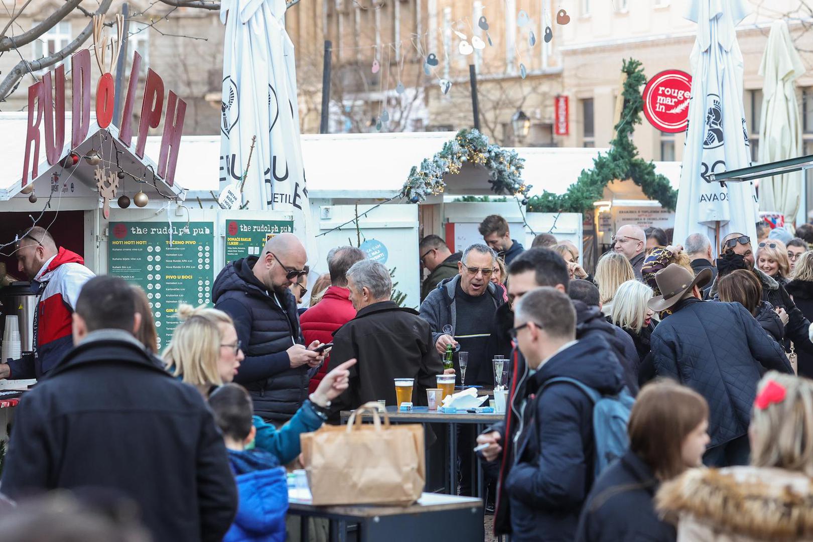
M 656 375 L 676 379 L 706 397 L 711 436 L 706 465 L 746 465 L 757 381 L 765 370 L 793 369 L 744 306 L 701 301 L 710 280 L 708 269 L 692 276 L 675 263 L 655 274 L 663 295 L 650 299 L 650 309 L 671 308 L 672 315 L 652 333 L 652 362 Z

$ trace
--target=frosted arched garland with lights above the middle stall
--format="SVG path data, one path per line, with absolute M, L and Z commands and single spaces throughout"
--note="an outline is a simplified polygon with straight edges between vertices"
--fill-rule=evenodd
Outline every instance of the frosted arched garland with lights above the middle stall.
M 473 128 L 457 132 L 431 160 L 424 158 L 420 168 L 413 166 L 401 196 L 418 203 L 430 195 L 443 193 L 446 189 L 443 176 L 459 173 L 466 162 L 480 164 L 489 171 L 489 184 L 494 193 L 522 197 L 523 204 L 527 203 L 531 186 L 521 179 L 524 159 L 513 150 L 489 145 L 489 138 Z

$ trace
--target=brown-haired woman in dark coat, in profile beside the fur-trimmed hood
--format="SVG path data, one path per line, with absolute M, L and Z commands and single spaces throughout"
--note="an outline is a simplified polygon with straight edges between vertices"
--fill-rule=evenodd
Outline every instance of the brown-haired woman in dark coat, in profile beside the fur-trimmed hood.
M 581 511 L 577 542 L 673 542 L 675 527 L 655 512 L 661 483 L 702 464 L 708 405 L 663 380 L 641 389 L 629 417 L 629 450 L 598 478 Z

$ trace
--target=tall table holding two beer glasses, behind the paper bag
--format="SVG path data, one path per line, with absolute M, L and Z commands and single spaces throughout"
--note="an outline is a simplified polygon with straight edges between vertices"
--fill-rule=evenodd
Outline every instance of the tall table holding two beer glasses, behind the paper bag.
M 341 411 L 341 423 L 347 423 L 350 414 L 353 410 Z M 479 435 L 485 431 L 485 426 L 502 421 L 505 414 L 472 414 L 469 412 L 457 412 L 454 414 L 446 414 L 439 410 L 429 410 L 426 406 L 414 406 L 411 412 L 398 412 L 398 407 L 395 405 L 387 407 L 387 414 L 389 421 L 393 423 L 446 423 L 448 426 L 448 453 L 446 460 L 449 462 L 447 467 L 448 478 L 446 479 L 446 492 L 451 495 L 457 494 L 457 427 L 459 423 L 473 423 L 476 426 L 476 433 Z M 363 421 L 372 421 L 371 414 L 363 414 Z M 473 454 L 474 452 L 472 452 Z M 476 496 L 482 497 L 483 491 L 483 471 L 477 468 L 476 460 L 472 462 L 472 479 L 476 476 Z

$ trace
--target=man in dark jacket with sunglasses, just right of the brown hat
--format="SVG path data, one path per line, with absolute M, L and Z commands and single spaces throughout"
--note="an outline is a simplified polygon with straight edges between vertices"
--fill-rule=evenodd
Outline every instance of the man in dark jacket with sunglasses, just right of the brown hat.
M 776 282 L 776 280 L 766 275 L 757 267 L 754 267 L 754 250 L 751 248 L 750 237 L 739 232 L 729 233 L 724 237 L 723 242 L 720 243 L 720 254 L 729 252 L 742 256 L 748 269 L 753 272 L 754 275 L 757 275 L 763 287 L 763 301 L 770 303 L 774 309 L 785 309 L 785 312 L 788 314 L 788 323 L 785 326 L 785 342 L 789 343 L 789 341 L 793 341 L 794 348 L 802 349 L 806 353 L 813 353 L 813 343 L 811 343 L 807 334 L 810 321 L 806 319 L 802 311 L 798 309 L 796 303 L 793 302 L 793 298 L 790 297 L 787 290 L 785 290 L 785 286 Z M 718 262 L 720 262 L 720 260 L 718 260 Z M 715 278 L 709 290 L 709 297 L 714 299 L 716 295 L 717 279 Z M 790 351 L 789 344 L 785 344 L 785 350 Z

